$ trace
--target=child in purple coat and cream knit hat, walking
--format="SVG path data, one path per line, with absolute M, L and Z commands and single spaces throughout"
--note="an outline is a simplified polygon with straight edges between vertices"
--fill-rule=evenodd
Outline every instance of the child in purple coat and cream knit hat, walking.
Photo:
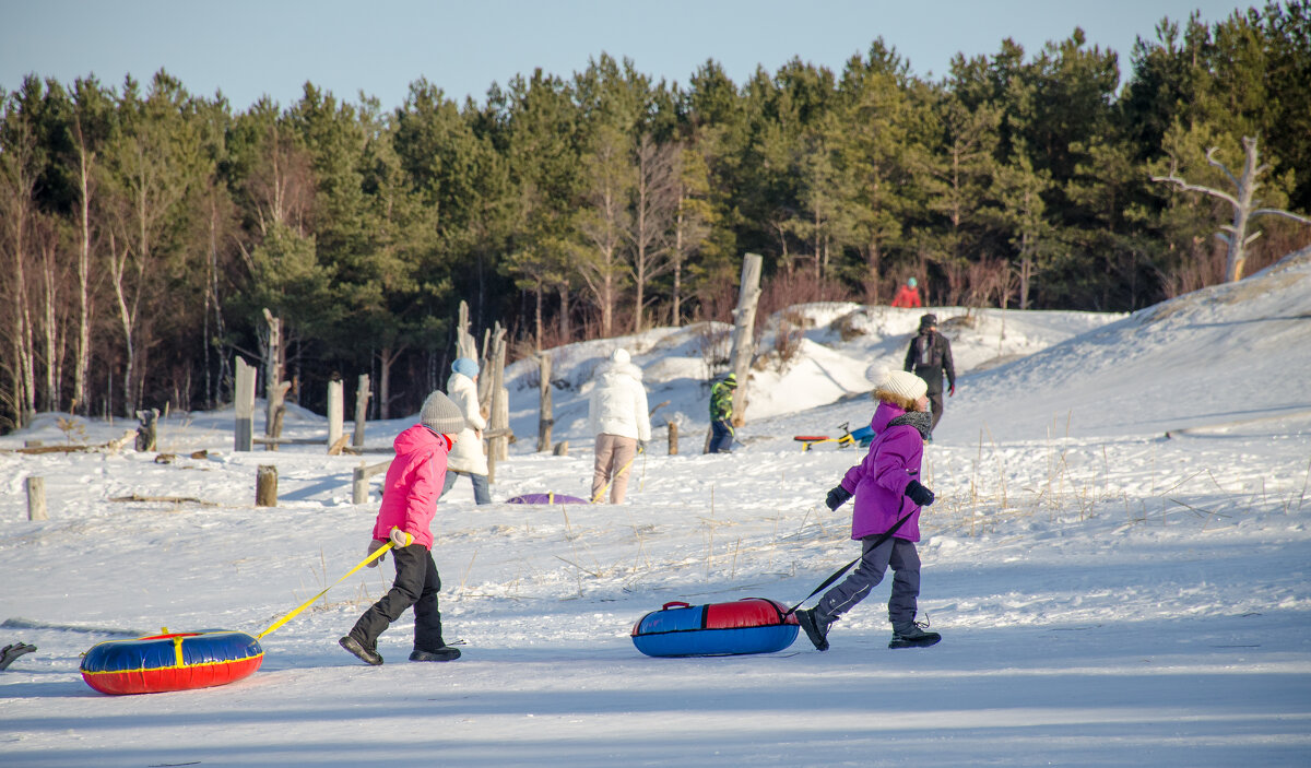
M 889 372 L 874 389 L 878 409 L 871 426 L 877 436 L 865 459 L 847 470 L 842 484 L 829 491 L 825 503 L 836 510 L 856 497 L 851 515 L 851 537 L 863 543 L 860 565 L 842 583 L 825 592 L 814 608 L 797 611 L 797 621 L 819 650 L 829 649 L 829 626 L 863 600 L 890 565 L 893 594 L 888 619 L 893 640 L 888 647 L 923 647 L 940 641 L 928 624 L 915 621 L 919 596 L 919 510 L 933 503 L 933 491 L 919 482 L 924 440 L 932 414 L 928 413 L 928 385 L 906 371 Z M 894 529 L 895 528 L 895 529 Z M 884 533 L 893 535 L 881 544 Z

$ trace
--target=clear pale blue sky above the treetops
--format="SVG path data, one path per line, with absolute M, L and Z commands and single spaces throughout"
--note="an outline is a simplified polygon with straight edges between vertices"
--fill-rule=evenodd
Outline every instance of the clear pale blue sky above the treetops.
M 355 101 L 400 106 L 426 77 L 448 96 L 482 101 L 515 73 L 570 76 L 602 52 L 687 83 L 707 59 L 735 83 L 800 56 L 840 71 L 882 37 L 915 73 L 947 72 L 950 58 L 992 54 L 1006 37 L 1037 52 L 1075 26 L 1121 55 L 1155 37 L 1162 17 L 1198 9 L 1214 22 L 1236 8 L 1209 0 L 686 1 L 586 0 L 0 0 L 0 88 L 26 73 L 71 83 L 94 73 L 118 86 L 161 67 L 193 93 L 222 90 L 236 109 L 262 94 L 287 106 L 307 80 Z

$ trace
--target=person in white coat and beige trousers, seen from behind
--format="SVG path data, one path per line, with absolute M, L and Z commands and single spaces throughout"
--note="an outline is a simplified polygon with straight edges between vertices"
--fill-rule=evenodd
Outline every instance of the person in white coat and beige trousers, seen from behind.
M 652 438 L 642 370 L 620 347 L 597 368 L 597 385 L 587 402 L 587 422 L 597 435 L 597 463 L 591 477 L 591 501 L 600 502 L 610 485 L 610 502 L 623 503 L 628 469 L 638 443 Z

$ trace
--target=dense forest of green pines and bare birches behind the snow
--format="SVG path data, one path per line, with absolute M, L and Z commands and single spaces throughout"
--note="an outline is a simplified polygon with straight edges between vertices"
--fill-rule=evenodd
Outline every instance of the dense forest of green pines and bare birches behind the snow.
M 602 54 L 481 104 L 425 79 L 400 107 L 305 83 L 237 111 L 148 84 L 0 88 L 0 431 L 41 410 L 231 400 L 282 320 L 290 396 L 371 374 L 374 417 L 444 385 L 454 318 L 515 355 L 728 321 L 745 253 L 760 320 L 815 300 L 1133 311 L 1223 280 L 1209 152 L 1260 143 L 1262 204 L 1311 212 L 1311 0 L 1163 18 L 1131 75 L 1078 28 L 918 77 L 876 38 L 687 84 Z M 1262 221 L 1248 271 L 1311 242 Z M 400 410 L 397 410 L 400 409 Z

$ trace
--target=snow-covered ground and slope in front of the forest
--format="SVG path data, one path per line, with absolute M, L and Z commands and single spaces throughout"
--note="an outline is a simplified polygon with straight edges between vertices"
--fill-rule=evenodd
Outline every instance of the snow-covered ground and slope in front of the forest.
M 405 661 L 409 619 L 383 634 L 382 667 L 337 646 L 388 562 L 265 637 L 245 680 L 100 695 L 77 672 L 97 642 L 256 634 L 334 582 L 364 553 L 379 481 L 355 506 L 361 457 L 233 453 L 231 410 L 164 421 L 172 463 L 0 452 L 0 645 L 39 649 L 0 672 L 0 764 L 1311 764 L 1311 257 L 1133 316 L 936 312 L 961 371 L 926 452 L 936 647 L 886 647 L 886 582 L 822 654 L 802 636 L 771 655 L 652 659 L 628 637 L 669 600 L 796 603 L 857 554 L 850 506 L 822 501 L 859 453 L 792 436 L 867 423 L 864 371 L 899 366 L 920 312 L 809 305 L 788 367 L 753 375 L 732 455 L 700 455 L 717 328 L 557 350 L 565 457 L 531 452 L 536 371 L 513 366 L 523 439 L 498 465 L 501 501 L 587 495 L 587 381 L 616 343 L 652 405 L 670 402 L 625 505 L 476 507 L 456 485 L 434 523 L 447 638 L 467 642 L 447 664 Z M 294 436 L 325 431 L 292 417 Z M 59 418 L 0 448 L 134 426 Z M 409 423 L 370 423 L 368 443 Z M 261 464 L 279 468 L 277 509 L 253 506 Z M 26 519 L 29 476 L 49 522 Z M 193 501 L 121 501 L 134 494 Z

